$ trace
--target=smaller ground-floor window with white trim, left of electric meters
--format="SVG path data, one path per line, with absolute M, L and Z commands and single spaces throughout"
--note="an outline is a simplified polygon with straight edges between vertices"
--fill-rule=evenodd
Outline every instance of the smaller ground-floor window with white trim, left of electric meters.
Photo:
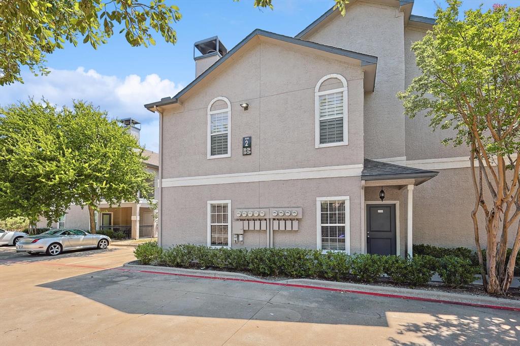
M 231 201 L 210 201 L 208 208 L 208 246 L 229 247 Z

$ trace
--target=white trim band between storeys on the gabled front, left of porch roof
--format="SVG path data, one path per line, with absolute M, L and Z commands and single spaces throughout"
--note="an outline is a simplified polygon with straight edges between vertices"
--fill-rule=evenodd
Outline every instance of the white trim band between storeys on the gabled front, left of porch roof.
M 265 170 L 259 172 L 231 173 L 213 176 L 166 178 L 162 187 L 233 184 L 258 181 L 318 179 L 361 176 L 363 165 L 309 167 L 295 169 Z

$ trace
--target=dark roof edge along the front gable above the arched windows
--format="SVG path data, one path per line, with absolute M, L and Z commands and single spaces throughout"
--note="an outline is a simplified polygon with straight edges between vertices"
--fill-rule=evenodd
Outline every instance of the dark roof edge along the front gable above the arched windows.
M 229 59 L 233 54 L 235 54 L 246 43 L 251 41 L 251 39 L 255 36 L 264 36 L 264 37 L 276 39 L 278 41 L 287 42 L 287 43 L 291 43 L 291 44 L 295 44 L 295 45 L 299 45 L 299 46 L 303 46 L 303 47 L 307 47 L 307 48 L 318 49 L 318 50 L 325 51 L 325 52 L 328 52 L 331 54 L 336 54 L 336 55 L 340 55 L 343 57 L 356 59 L 361 62 L 361 66 L 377 65 L 377 63 L 378 63 L 378 58 L 374 57 L 372 55 L 362 54 L 362 53 L 358 53 L 358 52 L 355 52 L 352 50 L 346 50 L 346 49 L 341 49 L 341 48 L 337 48 L 337 47 L 322 45 L 319 43 L 305 41 L 303 39 L 294 38 L 291 36 L 285 36 L 285 35 L 280 35 L 280 34 L 276 34 L 276 33 L 261 30 L 261 29 L 256 29 L 251 34 L 249 34 L 244 39 L 242 39 L 242 41 L 240 41 L 235 47 L 233 47 L 231 50 L 229 50 L 222 58 L 218 59 L 213 65 L 210 66 L 209 69 L 207 69 L 200 76 L 195 78 L 193 80 L 193 82 L 188 84 L 184 89 L 180 90 L 174 97 L 165 97 L 165 98 L 162 98 L 161 101 L 145 104 L 145 108 L 150 110 L 151 108 L 154 108 L 155 106 L 160 107 L 160 106 L 164 106 L 164 105 L 168 105 L 168 104 L 177 103 L 181 96 L 186 94 L 186 92 L 188 92 L 188 90 L 190 90 L 192 87 L 194 87 L 205 76 L 209 75 L 213 70 L 218 68 L 218 66 L 220 66 L 223 62 L 225 62 L 227 59 Z M 374 78 L 374 83 L 375 83 L 375 78 Z

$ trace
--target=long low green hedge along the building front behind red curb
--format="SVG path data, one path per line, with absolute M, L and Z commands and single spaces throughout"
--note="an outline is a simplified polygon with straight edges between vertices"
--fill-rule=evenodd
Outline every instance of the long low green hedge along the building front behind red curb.
M 168 249 L 156 242 L 139 244 L 135 257 L 142 264 L 178 268 L 219 268 L 251 272 L 259 276 L 311 277 L 325 280 L 354 280 L 372 283 L 383 274 L 397 284 L 421 286 L 439 273 L 446 285 L 460 287 L 473 282 L 478 272 L 472 262 L 454 256 L 439 259 L 428 255 L 352 255 L 345 252 L 300 248 L 211 249 L 183 244 Z

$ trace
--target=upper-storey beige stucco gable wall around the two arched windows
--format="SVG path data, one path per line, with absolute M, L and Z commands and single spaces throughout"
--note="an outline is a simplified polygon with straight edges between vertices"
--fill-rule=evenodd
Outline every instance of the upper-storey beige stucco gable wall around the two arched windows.
M 331 73 L 348 83 L 348 145 L 316 149 L 314 89 Z M 362 163 L 359 65 L 261 42 L 207 78 L 183 99 L 181 112 L 164 112 L 163 178 Z M 207 106 L 218 96 L 231 102 L 231 157 L 207 159 Z M 248 111 L 242 102 L 249 103 Z M 242 156 L 246 136 L 252 136 L 252 154 Z

